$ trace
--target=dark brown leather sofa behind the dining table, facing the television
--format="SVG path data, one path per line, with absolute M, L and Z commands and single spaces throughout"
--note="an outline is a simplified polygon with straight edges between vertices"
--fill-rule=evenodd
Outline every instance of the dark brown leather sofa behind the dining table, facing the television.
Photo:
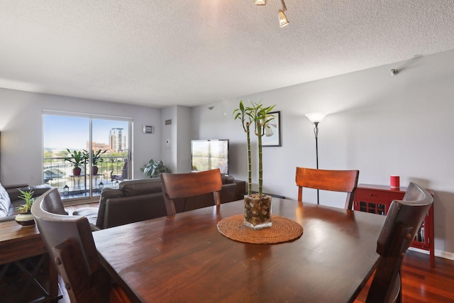
M 245 182 L 223 177 L 221 203 L 243 199 Z M 213 194 L 177 199 L 177 213 L 214 205 Z M 99 207 L 77 209 L 74 215 L 87 216 L 93 230 L 166 216 L 160 178 L 123 181 L 118 189 L 106 188 Z

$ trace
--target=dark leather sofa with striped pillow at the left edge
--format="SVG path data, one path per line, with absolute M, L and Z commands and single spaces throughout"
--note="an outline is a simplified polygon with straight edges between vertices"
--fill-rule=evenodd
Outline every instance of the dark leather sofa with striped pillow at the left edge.
M 29 186 L 28 184 L 0 184 L 0 222 L 14 220 L 16 214 L 18 214 L 16 207 L 25 203 L 23 199 L 19 198 L 19 196 L 22 195 L 21 192 L 19 192 L 19 189 L 26 192 L 32 189 L 33 197 L 36 198 L 47 192 L 48 189 L 50 189 L 50 185 L 43 184 Z

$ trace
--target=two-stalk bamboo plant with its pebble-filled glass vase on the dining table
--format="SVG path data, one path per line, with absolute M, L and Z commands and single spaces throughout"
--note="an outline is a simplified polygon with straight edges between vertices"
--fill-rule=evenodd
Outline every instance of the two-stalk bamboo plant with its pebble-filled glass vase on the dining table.
M 248 138 L 248 194 L 244 197 L 244 223 L 250 228 L 259 229 L 272 226 L 271 222 L 271 197 L 262 193 L 263 190 L 263 160 L 262 136 L 265 135 L 268 123 L 274 118 L 270 114 L 273 106 L 263 106 L 262 103 L 250 101 L 250 106 L 245 107 L 240 101 L 238 109 L 233 111 L 235 119 L 241 121 L 241 126 Z M 250 153 L 250 126 L 253 125 L 255 136 L 258 137 L 258 194 L 252 194 L 252 170 Z

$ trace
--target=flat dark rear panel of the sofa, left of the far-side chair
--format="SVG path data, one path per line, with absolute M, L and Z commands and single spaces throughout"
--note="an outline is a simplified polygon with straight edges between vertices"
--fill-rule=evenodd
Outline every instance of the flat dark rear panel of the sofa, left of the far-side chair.
M 99 227 L 109 228 L 166 215 L 162 192 L 106 199 L 104 225 Z

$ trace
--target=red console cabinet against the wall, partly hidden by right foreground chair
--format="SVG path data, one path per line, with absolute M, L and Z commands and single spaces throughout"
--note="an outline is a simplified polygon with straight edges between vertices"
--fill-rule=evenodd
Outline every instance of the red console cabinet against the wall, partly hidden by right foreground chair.
M 433 191 L 427 189 L 433 196 Z M 391 188 L 383 185 L 358 184 L 353 198 L 355 211 L 366 211 L 372 214 L 386 215 L 393 200 L 402 200 L 406 187 Z M 423 224 L 416 233 L 411 247 L 428 250 L 431 267 L 435 267 L 434 243 L 433 243 L 433 204 L 429 209 Z

